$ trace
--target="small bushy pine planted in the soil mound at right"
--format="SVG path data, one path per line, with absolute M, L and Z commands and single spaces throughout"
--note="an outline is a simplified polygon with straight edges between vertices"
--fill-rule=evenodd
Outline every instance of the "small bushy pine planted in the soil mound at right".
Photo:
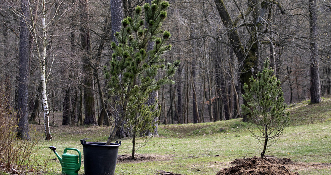
M 267 147 L 277 141 L 289 121 L 284 93 L 280 81 L 269 67 L 269 59 L 264 62 L 263 71 L 257 73 L 256 79 L 251 76 L 250 85 L 244 84 L 244 92 L 247 105 L 242 105 L 242 111 L 247 115 L 249 131 L 263 146 L 263 158 Z

